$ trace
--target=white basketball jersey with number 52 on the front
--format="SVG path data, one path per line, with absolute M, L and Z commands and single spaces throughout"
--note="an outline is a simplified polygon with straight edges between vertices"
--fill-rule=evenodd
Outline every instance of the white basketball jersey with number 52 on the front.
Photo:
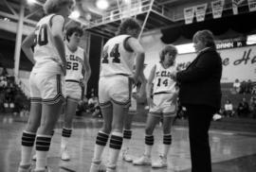
M 77 80 L 82 79 L 83 66 L 83 49 L 78 47 L 75 52 L 71 52 L 65 44 L 65 59 L 66 59 L 66 79 Z

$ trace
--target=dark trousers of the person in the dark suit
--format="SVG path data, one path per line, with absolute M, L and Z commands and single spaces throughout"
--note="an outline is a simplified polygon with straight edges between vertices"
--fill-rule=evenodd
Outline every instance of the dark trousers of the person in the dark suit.
M 189 117 L 192 172 L 211 172 L 210 120 L 216 110 L 210 106 L 186 106 Z

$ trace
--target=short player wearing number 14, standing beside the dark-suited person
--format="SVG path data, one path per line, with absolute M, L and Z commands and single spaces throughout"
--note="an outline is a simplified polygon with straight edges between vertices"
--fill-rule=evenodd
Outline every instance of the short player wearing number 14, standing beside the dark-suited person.
M 166 167 L 167 155 L 172 144 L 171 126 L 176 115 L 176 82 L 170 77 L 175 71 L 175 57 L 177 50 L 174 45 L 167 45 L 160 52 L 160 62 L 156 63 L 148 78 L 146 86 L 150 112 L 147 117 L 145 129 L 145 150 L 143 156 L 133 163 L 137 165 L 151 165 L 151 151 L 154 145 L 154 129 L 160 118 L 163 118 L 163 152 L 160 161 L 152 164 L 152 167 Z M 153 99 L 151 89 L 153 89 Z

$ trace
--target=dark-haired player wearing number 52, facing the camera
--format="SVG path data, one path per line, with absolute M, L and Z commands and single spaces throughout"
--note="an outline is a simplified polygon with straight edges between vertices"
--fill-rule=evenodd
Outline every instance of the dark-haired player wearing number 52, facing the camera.
M 82 28 L 72 26 L 66 30 L 65 57 L 66 57 L 66 75 L 65 75 L 65 91 L 66 104 L 64 112 L 64 128 L 61 143 L 61 159 L 70 160 L 67 151 L 67 144 L 72 133 L 72 119 L 76 113 L 78 102 L 82 98 L 81 82 L 84 84 L 85 93 L 87 81 L 91 75 L 91 68 L 85 52 L 79 47 L 82 37 Z M 82 75 L 82 68 L 85 71 Z M 83 77 L 84 76 L 84 77 Z

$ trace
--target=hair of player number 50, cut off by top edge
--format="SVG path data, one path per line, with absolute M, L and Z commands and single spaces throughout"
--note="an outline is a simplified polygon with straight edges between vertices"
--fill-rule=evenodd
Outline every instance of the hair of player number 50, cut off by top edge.
M 66 4 L 75 6 L 75 0 L 46 0 L 44 4 L 44 10 L 46 14 L 58 12 Z

